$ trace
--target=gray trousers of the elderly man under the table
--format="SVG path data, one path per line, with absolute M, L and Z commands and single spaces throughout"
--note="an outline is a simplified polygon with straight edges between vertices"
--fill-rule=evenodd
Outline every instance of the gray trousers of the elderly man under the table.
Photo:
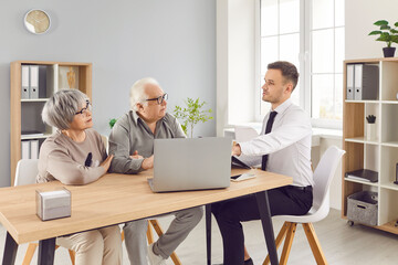
M 154 252 L 164 258 L 168 258 L 199 223 L 203 215 L 203 210 L 199 206 L 170 214 L 174 214 L 176 218 L 170 223 L 166 233 L 164 233 L 158 241 L 154 243 Z M 147 265 L 147 220 L 128 222 L 123 229 L 125 233 L 128 258 L 132 265 Z

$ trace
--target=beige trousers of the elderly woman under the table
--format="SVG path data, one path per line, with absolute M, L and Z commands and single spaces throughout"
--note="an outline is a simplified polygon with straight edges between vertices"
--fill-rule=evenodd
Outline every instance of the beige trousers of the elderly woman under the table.
M 122 265 L 123 263 L 118 225 L 57 237 L 56 244 L 76 253 L 76 265 Z

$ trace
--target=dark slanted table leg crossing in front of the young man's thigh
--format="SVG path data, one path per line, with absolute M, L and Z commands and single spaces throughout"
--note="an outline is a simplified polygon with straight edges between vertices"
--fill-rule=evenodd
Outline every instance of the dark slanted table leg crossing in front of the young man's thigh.
M 270 261 L 272 265 L 277 265 L 277 252 L 275 245 L 275 236 L 273 233 L 272 219 L 271 219 L 271 210 L 268 198 L 268 192 L 262 191 L 255 193 L 255 199 L 258 201 L 258 206 L 260 211 L 261 224 L 263 226 L 263 232 L 266 242 L 266 248 L 270 255 Z

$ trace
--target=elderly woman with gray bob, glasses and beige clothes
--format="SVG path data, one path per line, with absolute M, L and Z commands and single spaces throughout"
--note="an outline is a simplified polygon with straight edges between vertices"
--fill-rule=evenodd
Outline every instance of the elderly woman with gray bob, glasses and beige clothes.
M 92 129 L 91 105 L 85 94 L 77 89 L 55 93 L 45 103 L 42 118 L 57 130 L 41 146 L 38 182 L 87 184 L 106 173 L 113 156 L 107 157 L 101 135 Z M 75 251 L 76 265 L 122 264 L 117 225 L 61 236 L 56 244 Z

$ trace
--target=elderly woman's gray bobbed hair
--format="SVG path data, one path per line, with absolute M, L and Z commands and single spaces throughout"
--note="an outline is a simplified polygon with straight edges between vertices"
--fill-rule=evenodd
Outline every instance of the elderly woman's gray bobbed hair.
M 61 130 L 69 129 L 76 112 L 86 100 L 87 95 L 77 89 L 59 91 L 44 104 L 42 119 Z

